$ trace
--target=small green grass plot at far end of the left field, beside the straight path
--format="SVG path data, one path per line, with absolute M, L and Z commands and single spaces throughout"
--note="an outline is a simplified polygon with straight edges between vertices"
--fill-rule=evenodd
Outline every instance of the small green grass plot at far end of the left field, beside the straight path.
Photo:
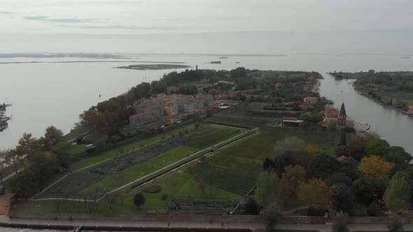
M 201 150 L 223 141 L 225 138 L 234 137 L 240 132 L 241 131 L 237 129 L 215 128 L 214 131 L 211 131 L 200 138 L 196 138 L 195 140 L 190 140 L 187 143 L 184 143 L 183 146 Z

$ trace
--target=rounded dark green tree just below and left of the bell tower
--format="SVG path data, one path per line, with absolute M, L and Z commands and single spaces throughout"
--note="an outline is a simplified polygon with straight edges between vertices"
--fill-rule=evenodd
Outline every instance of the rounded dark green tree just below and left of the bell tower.
M 316 155 L 307 164 L 307 175 L 311 178 L 325 179 L 337 172 L 341 164 L 337 159 L 326 154 Z

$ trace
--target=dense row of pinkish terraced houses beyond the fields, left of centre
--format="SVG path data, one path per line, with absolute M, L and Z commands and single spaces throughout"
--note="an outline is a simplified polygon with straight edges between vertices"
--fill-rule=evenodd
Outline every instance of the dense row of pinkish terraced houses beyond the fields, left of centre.
M 214 104 L 212 95 L 157 94 L 134 106 L 135 115 L 130 116 L 130 126 L 142 128 L 149 124 L 178 120 L 179 115 L 196 113 Z

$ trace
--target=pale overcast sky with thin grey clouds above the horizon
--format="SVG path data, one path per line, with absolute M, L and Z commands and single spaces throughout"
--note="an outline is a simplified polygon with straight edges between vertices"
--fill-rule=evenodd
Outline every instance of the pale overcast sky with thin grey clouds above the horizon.
M 413 54 L 411 0 L 0 0 L 0 52 Z

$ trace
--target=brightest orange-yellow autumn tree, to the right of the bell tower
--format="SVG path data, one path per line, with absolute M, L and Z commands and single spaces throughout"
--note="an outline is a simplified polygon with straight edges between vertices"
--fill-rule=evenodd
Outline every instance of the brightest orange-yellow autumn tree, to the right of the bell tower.
M 393 166 L 384 161 L 383 158 L 371 156 L 361 159 L 358 171 L 360 171 L 361 175 L 372 179 L 387 179 L 391 168 L 393 168 Z

